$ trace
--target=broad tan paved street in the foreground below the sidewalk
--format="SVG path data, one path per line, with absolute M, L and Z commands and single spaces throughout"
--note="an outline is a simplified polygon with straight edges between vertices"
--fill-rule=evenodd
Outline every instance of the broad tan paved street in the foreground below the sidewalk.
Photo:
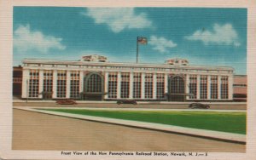
M 14 150 L 245 152 L 245 145 L 14 109 Z

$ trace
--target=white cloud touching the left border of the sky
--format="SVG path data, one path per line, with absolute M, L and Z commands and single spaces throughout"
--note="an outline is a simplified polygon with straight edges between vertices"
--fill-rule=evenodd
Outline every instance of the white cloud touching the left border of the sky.
M 48 53 L 49 49 L 66 49 L 61 44 L 62 39 L 45 36 L 41 31 L 31 31 L 30 26 L 19 26 L 14 31 L 14 48 L 19 52 L 37 51 Z

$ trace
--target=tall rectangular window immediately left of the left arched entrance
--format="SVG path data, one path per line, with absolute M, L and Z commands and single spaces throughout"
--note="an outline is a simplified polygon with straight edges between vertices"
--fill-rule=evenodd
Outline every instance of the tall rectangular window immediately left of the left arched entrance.
M 79 83 L 80 83 L 80 74 L 79 71 L 70 72 L 70 98 L 78 99 L 79 98 Z

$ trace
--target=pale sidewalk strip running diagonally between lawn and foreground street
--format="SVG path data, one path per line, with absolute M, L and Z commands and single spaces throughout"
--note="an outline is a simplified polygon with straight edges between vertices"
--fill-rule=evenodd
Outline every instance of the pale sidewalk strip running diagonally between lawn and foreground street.
M 84 120 L 89 120 L 94 122 L 112 123 L 112 124 L 124 125 L 124 126 L 129 126 L 134 128 L 153 129 L 153 130 L 159 130 L 159 131 L 171 132 L 171 133 L 177 133 L 177 134 L 187 134 L 191 136 L 197 136 L 197 137 L 208 138 L 213 140 L 224 140 L 224 141 L 246 144 L 245 134 L 232 134 L 232 133 L 218 132 L 218 131 L 212 131 L 212 130 L 206 130 L 206 129 L 190 129 L 190 128 L 184 128 L 179 126 L 160 124 L 160 123 L 145 123 L 145 122 L 115 119 L 115 118 L 108 118 L 108 117 L 84 116 L 84 115 L 63 113 L 63 112 L 57 112 L 57 111 L 43 111 L 43 110 L 34 109 L 32 107 L 16 106 L 14 108 L 25 110 L 25 111 L 41 112 L 41 113 L 61 116 L 61 117 L 78 118 L 78 119 L 84 119 Z

